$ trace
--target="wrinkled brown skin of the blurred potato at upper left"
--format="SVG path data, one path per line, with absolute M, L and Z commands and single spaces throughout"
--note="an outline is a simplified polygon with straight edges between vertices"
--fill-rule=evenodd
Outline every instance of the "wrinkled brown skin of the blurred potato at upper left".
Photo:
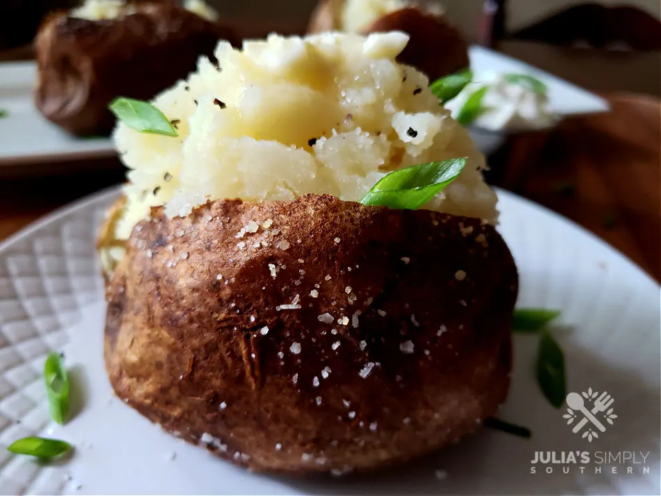
M 151 99 L 212 56 L 234 33 L 168 3 L 140 3 L 118 19 L 49 17 L 35 38 L 38 83 L 34 99 L 45 117 L 72 134 L 109 134 L 115 97 Z M 154 77 L 157 74 L 158 77 Z

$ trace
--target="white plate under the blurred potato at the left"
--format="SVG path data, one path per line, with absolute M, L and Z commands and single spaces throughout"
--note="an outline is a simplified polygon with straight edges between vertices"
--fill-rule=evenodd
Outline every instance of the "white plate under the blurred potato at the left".
M 45 119 L 36 109 L 34 62 L 0 63 L 0 168 L 42 161 L 111 157 L 109 138 L 76 138 Z M 1 170 L 0 170 L 1 172 Z

